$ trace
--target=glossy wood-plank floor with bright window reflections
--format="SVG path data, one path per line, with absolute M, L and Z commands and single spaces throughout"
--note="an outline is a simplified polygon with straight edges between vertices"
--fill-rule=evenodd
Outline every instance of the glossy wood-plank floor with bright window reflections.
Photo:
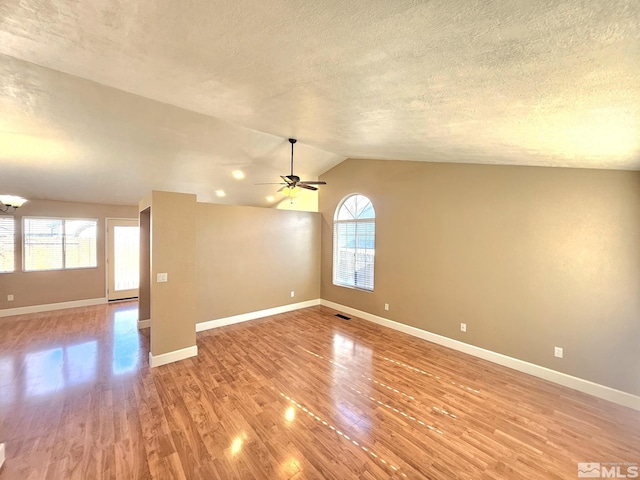
M 0 479 L 565 479 L 640 462 L 640 412 L 335 313 L 202 332 L 198 357 L 153 370 L 135 303 L 5 319 Z

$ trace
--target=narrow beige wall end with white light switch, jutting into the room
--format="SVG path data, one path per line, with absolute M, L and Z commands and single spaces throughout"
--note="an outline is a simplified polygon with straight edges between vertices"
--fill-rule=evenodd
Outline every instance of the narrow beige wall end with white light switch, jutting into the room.
M 196 344 L 196 196 L 153 191 L 150 212 L 151 354 L 158 356 Z M 158 273 L 167 282 L 158 283 Z

